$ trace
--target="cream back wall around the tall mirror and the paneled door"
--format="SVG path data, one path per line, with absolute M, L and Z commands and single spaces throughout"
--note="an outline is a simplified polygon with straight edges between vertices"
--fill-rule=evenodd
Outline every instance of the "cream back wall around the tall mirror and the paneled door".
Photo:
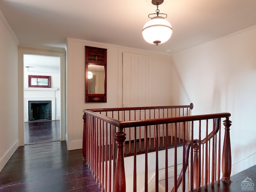
M 110 44 L 67 40 L 67 144 L 68 149 L 82 148 L 83 109 L 114 108 L 122 104 L 122 52 L 149 55 L 150 105 L 170 105 L 171 56 Z M 107 49 L 107 102 L 85 103 L 85 48 Z

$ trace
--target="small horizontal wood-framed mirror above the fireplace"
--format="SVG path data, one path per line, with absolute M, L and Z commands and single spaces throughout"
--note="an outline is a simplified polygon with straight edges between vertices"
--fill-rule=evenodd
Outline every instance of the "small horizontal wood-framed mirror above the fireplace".
M 41 79 L 43 81 L 42 84 L 40 84 L 38 79 Z M 51 76 L 29 75 L 28 76 L 28 87 L 50 88 L 51 87 Z

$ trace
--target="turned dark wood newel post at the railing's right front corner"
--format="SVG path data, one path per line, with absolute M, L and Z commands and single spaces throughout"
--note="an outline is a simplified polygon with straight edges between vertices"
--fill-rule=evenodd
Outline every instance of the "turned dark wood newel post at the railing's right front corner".
M 225 183 L 231 183 L 230 174 L 231 174 L 231 147 L 230 147 L 230 126 L 232 121 L 226 117 L 226 120 L 223 121 L 225 126 L 225 135 L 224 135 L 224 144 L 222 152 L 222 181 Z

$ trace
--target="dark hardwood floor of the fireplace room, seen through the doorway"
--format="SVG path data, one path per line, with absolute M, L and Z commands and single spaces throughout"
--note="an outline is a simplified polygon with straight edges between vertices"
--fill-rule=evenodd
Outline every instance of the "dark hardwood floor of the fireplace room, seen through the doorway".
M 60 141 L 60 120 L 24 123 L 24 144 Z

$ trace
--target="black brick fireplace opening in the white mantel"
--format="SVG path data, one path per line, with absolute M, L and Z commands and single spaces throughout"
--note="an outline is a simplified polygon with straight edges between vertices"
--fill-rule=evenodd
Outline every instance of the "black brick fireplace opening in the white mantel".
M 52 101 L 28 101 L 28 121 L 52 120 Z

